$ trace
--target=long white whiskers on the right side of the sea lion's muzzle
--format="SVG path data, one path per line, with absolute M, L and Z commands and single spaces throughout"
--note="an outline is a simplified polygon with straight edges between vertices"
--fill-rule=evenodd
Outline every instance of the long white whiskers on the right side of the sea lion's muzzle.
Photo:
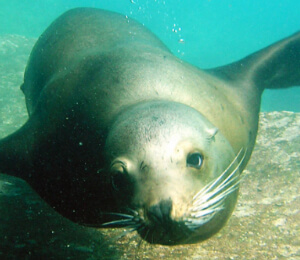
M 240 174 L 236 173 L 245 159 L 246 152 L 247 149 L 242 148 L 225 171 L 193 197 L 192 213 L 185 219 L 185 225 L 190 230 L 195 230 L 209 222 L 217 212 L 224 209 L 225 198 L 238 189 L 241 178 Z

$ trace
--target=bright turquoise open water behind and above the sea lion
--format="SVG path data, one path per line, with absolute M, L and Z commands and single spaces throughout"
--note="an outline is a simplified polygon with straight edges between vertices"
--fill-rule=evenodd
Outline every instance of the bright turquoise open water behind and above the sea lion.
M 137 19 L 201 68 L 230 63 L 300 29 L 299 0 L 0 0 L 0 34 L 38 37 L 78 6 Z M 265 91 L 262 111 L 270 110 L 300 112 L 300 88 Z

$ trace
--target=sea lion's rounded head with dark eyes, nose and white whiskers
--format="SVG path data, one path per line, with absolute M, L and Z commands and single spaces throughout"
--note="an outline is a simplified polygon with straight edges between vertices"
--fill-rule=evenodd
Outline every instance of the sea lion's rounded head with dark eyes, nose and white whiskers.
M 141 103 L 121 113 L 106 142 L 116 203 L 150 243 L 196 243 L 220 230 L 236 204 L 239 165 L 226 138 L 197 110 Z

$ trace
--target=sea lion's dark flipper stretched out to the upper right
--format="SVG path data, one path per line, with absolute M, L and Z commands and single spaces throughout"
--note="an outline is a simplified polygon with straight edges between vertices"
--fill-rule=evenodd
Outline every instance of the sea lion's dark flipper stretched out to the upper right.
M 265 88 L 300 86 L 300 32 L 244 59 L 207 70 L 227 81 L 244 81 Z

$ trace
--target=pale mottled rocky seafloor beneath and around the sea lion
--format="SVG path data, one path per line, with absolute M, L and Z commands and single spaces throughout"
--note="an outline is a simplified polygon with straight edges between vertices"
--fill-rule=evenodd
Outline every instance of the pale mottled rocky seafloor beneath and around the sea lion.
M 0 36 L 0 138 L 27 119 L 19 90 L 34 39 Z M 160 246 L 123 229 L 74 224 L 0 174 L 0 259 L 299 259 L 300 114 L 261 113 L 257 143 L 226 227 L 194 245 Z

